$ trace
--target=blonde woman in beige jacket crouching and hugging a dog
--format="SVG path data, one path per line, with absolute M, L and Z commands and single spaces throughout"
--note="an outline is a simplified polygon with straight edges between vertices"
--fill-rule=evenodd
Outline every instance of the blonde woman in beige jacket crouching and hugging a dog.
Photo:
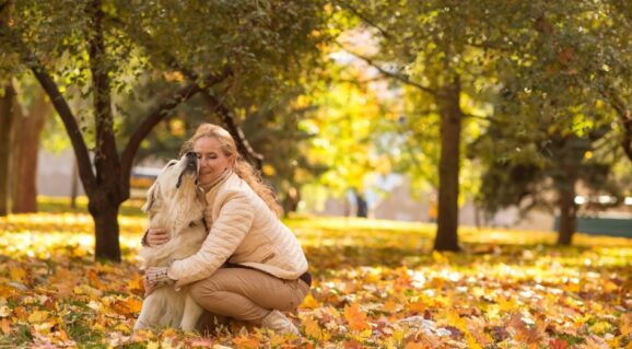
M 200 125 L 183 146 L 188 151 L 198 156 L 209 235 L 197 254 L 147 270 L 148 294 L 165 283 L 188 284 L 194 300 L 212 314 L 299 336 L 280 311 L 303 302 L 312 277 L 299 241 L 278 218 L 271 189 L 219 126 Z M 167 241 L 164 229 L 151 229 L 143 239 L 149 246 Z

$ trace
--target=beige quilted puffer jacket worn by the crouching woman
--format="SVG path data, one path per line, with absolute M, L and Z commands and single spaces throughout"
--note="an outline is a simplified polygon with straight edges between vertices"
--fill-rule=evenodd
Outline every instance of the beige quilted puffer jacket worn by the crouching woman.
M 307 259 L 292 231 L 235 173 L 207 193 L 207 203 L 210 232 L 202 247 L 174 260 L 168 269 L 178 287 L 210 277 L 226 260 L 286 280 L 307 271 Z

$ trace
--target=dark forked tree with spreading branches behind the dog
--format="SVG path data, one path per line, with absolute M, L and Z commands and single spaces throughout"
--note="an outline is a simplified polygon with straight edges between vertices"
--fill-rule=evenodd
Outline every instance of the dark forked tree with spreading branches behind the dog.
M 0 23 L 0 46 L 20 56 L 61 117 L 95 222 L 95 256 L 112 260 L 120 260 L 117 216 L 133 158 L 152 128 L 200 92 L 221 109 L 219 91 L 291 75 L 288 62 L 315 51 L 311 35 L 321 24 L 316 2 L 4 1 L 0 9 L 11 19 Z M 189 81 L 163 79 L 168 95 L 140 101 L 150 112 L 119 151 L 115 133 L 125 110 L 116 102 L 134 97 L 137 79 L 160 79 L 165 70 Z M 92 100 L 91 113 L 73 113 L 72 97 Z

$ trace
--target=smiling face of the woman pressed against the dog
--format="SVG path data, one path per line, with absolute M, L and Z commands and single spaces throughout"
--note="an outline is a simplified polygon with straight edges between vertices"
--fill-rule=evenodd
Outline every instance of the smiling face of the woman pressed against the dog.
M 202 137 L 194 142 L 194 152 L 198 155 L 198 181 L 201 185 L 213 183 L 233 165 L 224 155 L 220 141 L 214 137 Z

